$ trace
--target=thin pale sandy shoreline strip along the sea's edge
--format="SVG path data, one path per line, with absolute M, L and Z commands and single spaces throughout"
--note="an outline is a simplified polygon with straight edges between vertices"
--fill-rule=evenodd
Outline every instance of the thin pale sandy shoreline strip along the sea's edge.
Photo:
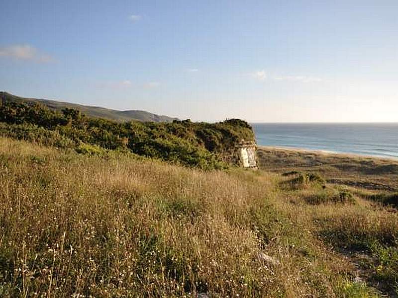
M 393 160 L 398 161 L 398 156 L 385 156 L 385 155 L 372 155 L 372 154 L 360 154 L 360 153 L 352 153 L 352 152 L 340 152 L 340 151 L 331 151 L 324 149 L 306 149 L 300 147 L 284 147 L 284 146 L 268 146 L 268 145 L 257 145 L 258 148 L 269 149 L 269 150 L 286 150 L 286 151 L 296 151 L 301 153 L 318 153 L 323 155 L 339 155 L 339 156 L 348 156 L 348 157 L 358 157 L 358 158 L 377 158 L 381 160 Z

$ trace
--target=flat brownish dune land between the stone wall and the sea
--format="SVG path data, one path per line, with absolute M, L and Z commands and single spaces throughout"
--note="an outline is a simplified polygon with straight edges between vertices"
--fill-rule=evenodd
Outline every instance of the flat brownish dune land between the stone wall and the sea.
M 271 172 L 318 172 L 328 183 L 398 191 L 398 160 L 321 150 L 258 147 L 259 166 Z

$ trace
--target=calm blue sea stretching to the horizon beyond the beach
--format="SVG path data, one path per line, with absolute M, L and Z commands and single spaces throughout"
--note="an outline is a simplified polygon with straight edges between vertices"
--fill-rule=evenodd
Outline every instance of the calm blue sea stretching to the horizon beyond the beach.
M 398 123 L 251 123 L 257 145 L 398 158 Z

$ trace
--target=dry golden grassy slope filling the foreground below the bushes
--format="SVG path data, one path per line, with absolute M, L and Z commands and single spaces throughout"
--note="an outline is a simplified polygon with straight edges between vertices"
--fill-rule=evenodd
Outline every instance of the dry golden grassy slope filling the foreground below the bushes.
M 376 297 L 354 279 L 391 283 L 381 263 L 342 249 L 394 242 L 397 214 L 288 179 L 0 139 L 0 296 Z

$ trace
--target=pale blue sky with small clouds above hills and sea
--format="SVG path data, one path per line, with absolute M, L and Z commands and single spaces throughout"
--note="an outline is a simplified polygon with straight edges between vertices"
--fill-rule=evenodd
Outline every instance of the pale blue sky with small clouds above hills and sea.
M 0 89 L 218 121 L 398 121 L 398 1 L 1 1 Z

